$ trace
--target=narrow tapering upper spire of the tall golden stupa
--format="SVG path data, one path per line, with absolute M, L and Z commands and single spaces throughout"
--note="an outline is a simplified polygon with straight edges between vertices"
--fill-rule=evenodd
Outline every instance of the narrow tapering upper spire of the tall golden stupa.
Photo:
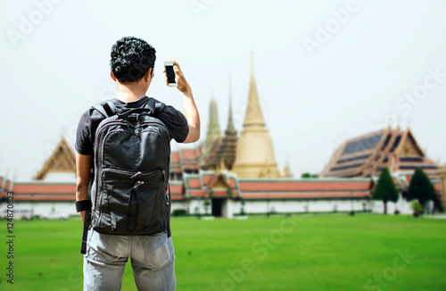
M 257 86 L 254 77 L 254 60 L 251 52 L 251 84 L 250 93 L 248 96 L 248 106 L 246 107 L 246 114 L 244 116 L 244 127 L 265 127 L 263 114 L 260 109 L 259 96 L 257 95 Z

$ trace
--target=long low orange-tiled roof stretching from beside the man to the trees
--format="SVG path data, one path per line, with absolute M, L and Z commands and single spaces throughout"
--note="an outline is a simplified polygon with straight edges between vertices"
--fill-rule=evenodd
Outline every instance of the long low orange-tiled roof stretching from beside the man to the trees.
M 188 198 L 349 199 L 370 197 L 371 179 L 237 179 L 227 170 L 185 176 Z

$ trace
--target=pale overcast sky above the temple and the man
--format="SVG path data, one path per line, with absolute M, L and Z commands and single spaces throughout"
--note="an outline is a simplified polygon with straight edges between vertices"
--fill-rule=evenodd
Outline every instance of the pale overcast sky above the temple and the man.
M 110 49 L 124 36 L 157 50 L 148 96 L 183 110 L 162 76 L 178 60 L 202 140 L 212 96 L 227 126 L 229 73 L 242 129 L 253 51 L 279 169 L 319 172 L 336 146 L 389 122 L 446 162 L 446 1 L 49 1 L 0 3 L 0 174 L 29 180 L 62 134 L 74 145 L 80 115 L 115 94 Z

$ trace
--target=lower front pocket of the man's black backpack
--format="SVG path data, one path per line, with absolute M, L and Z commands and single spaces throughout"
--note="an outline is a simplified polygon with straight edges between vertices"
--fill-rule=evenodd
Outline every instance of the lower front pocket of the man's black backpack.
M 164 231 L 163 170 L 147 172 L 105 169 L 99 193 L 101 213 L 95 230 L 117 235 L 147 235 Z

